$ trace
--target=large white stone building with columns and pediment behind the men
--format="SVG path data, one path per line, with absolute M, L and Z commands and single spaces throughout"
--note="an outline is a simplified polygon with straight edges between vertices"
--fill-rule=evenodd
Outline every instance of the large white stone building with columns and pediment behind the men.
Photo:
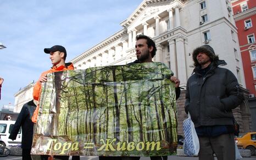
M 174 72 L 186 90 L 186 81 L 194 69 L 192 52 L 203 44 L 211 45 L 220 59 L 227 62 L 225 68 L 236 75 L 244 97 L 248 90 L 238 44 L 237 28 L 233 20 L 230 0 L 144 0 L 123 22 L 121 31 L 75 57 L 71 62 L 75 69 L 127 64 L 136 60 L 137 34 L 151 37 L 157 45 L 153 61 L 163 62 Z M 184 111 L 185 92 L 177 101 L 179 134 Z M 248 102 L 234 110 L 241 131 L 251 131 L 251 112 Z

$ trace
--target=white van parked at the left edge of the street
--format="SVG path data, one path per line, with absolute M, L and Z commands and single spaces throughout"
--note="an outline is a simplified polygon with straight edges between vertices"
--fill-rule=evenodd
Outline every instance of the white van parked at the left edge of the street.
M 21 145 L 21 128 L 18 132 L 17 138 L 15 140 L 9 139 L 10 132 L 13 129 L 15 121 L 0 121 L 0 145 L 9 146 L 9 145 Z

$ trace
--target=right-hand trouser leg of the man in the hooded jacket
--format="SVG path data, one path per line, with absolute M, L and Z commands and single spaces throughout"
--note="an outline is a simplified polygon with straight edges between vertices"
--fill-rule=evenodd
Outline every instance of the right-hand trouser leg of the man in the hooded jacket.
M 222 134 L 211 138 L 210 141 L 218 160 L 236 159 L 235 140 L 233 134 Z

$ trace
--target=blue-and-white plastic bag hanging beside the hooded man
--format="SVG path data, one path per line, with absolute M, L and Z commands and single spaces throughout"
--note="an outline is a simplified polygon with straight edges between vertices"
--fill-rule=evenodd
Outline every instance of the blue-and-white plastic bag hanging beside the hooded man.
M 188 112 L 188 118 L 183 121 L 184 131 L 184 144 L 183 151 L 187 156 L 196 156 L 199 153 L 199 139 L 197 137 L 196 129 L 194 129 L 194 123 L 191 120 L 190 113 Z

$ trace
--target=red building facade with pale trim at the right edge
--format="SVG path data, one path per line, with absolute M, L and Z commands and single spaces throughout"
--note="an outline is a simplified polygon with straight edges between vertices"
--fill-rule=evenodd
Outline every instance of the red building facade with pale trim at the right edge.
M 249 90 L 252 130 L 256 131 L 256 1 L 232 0 L 233 17 L 238 29 L 238 39 L 244 69 L 244 79 Z

